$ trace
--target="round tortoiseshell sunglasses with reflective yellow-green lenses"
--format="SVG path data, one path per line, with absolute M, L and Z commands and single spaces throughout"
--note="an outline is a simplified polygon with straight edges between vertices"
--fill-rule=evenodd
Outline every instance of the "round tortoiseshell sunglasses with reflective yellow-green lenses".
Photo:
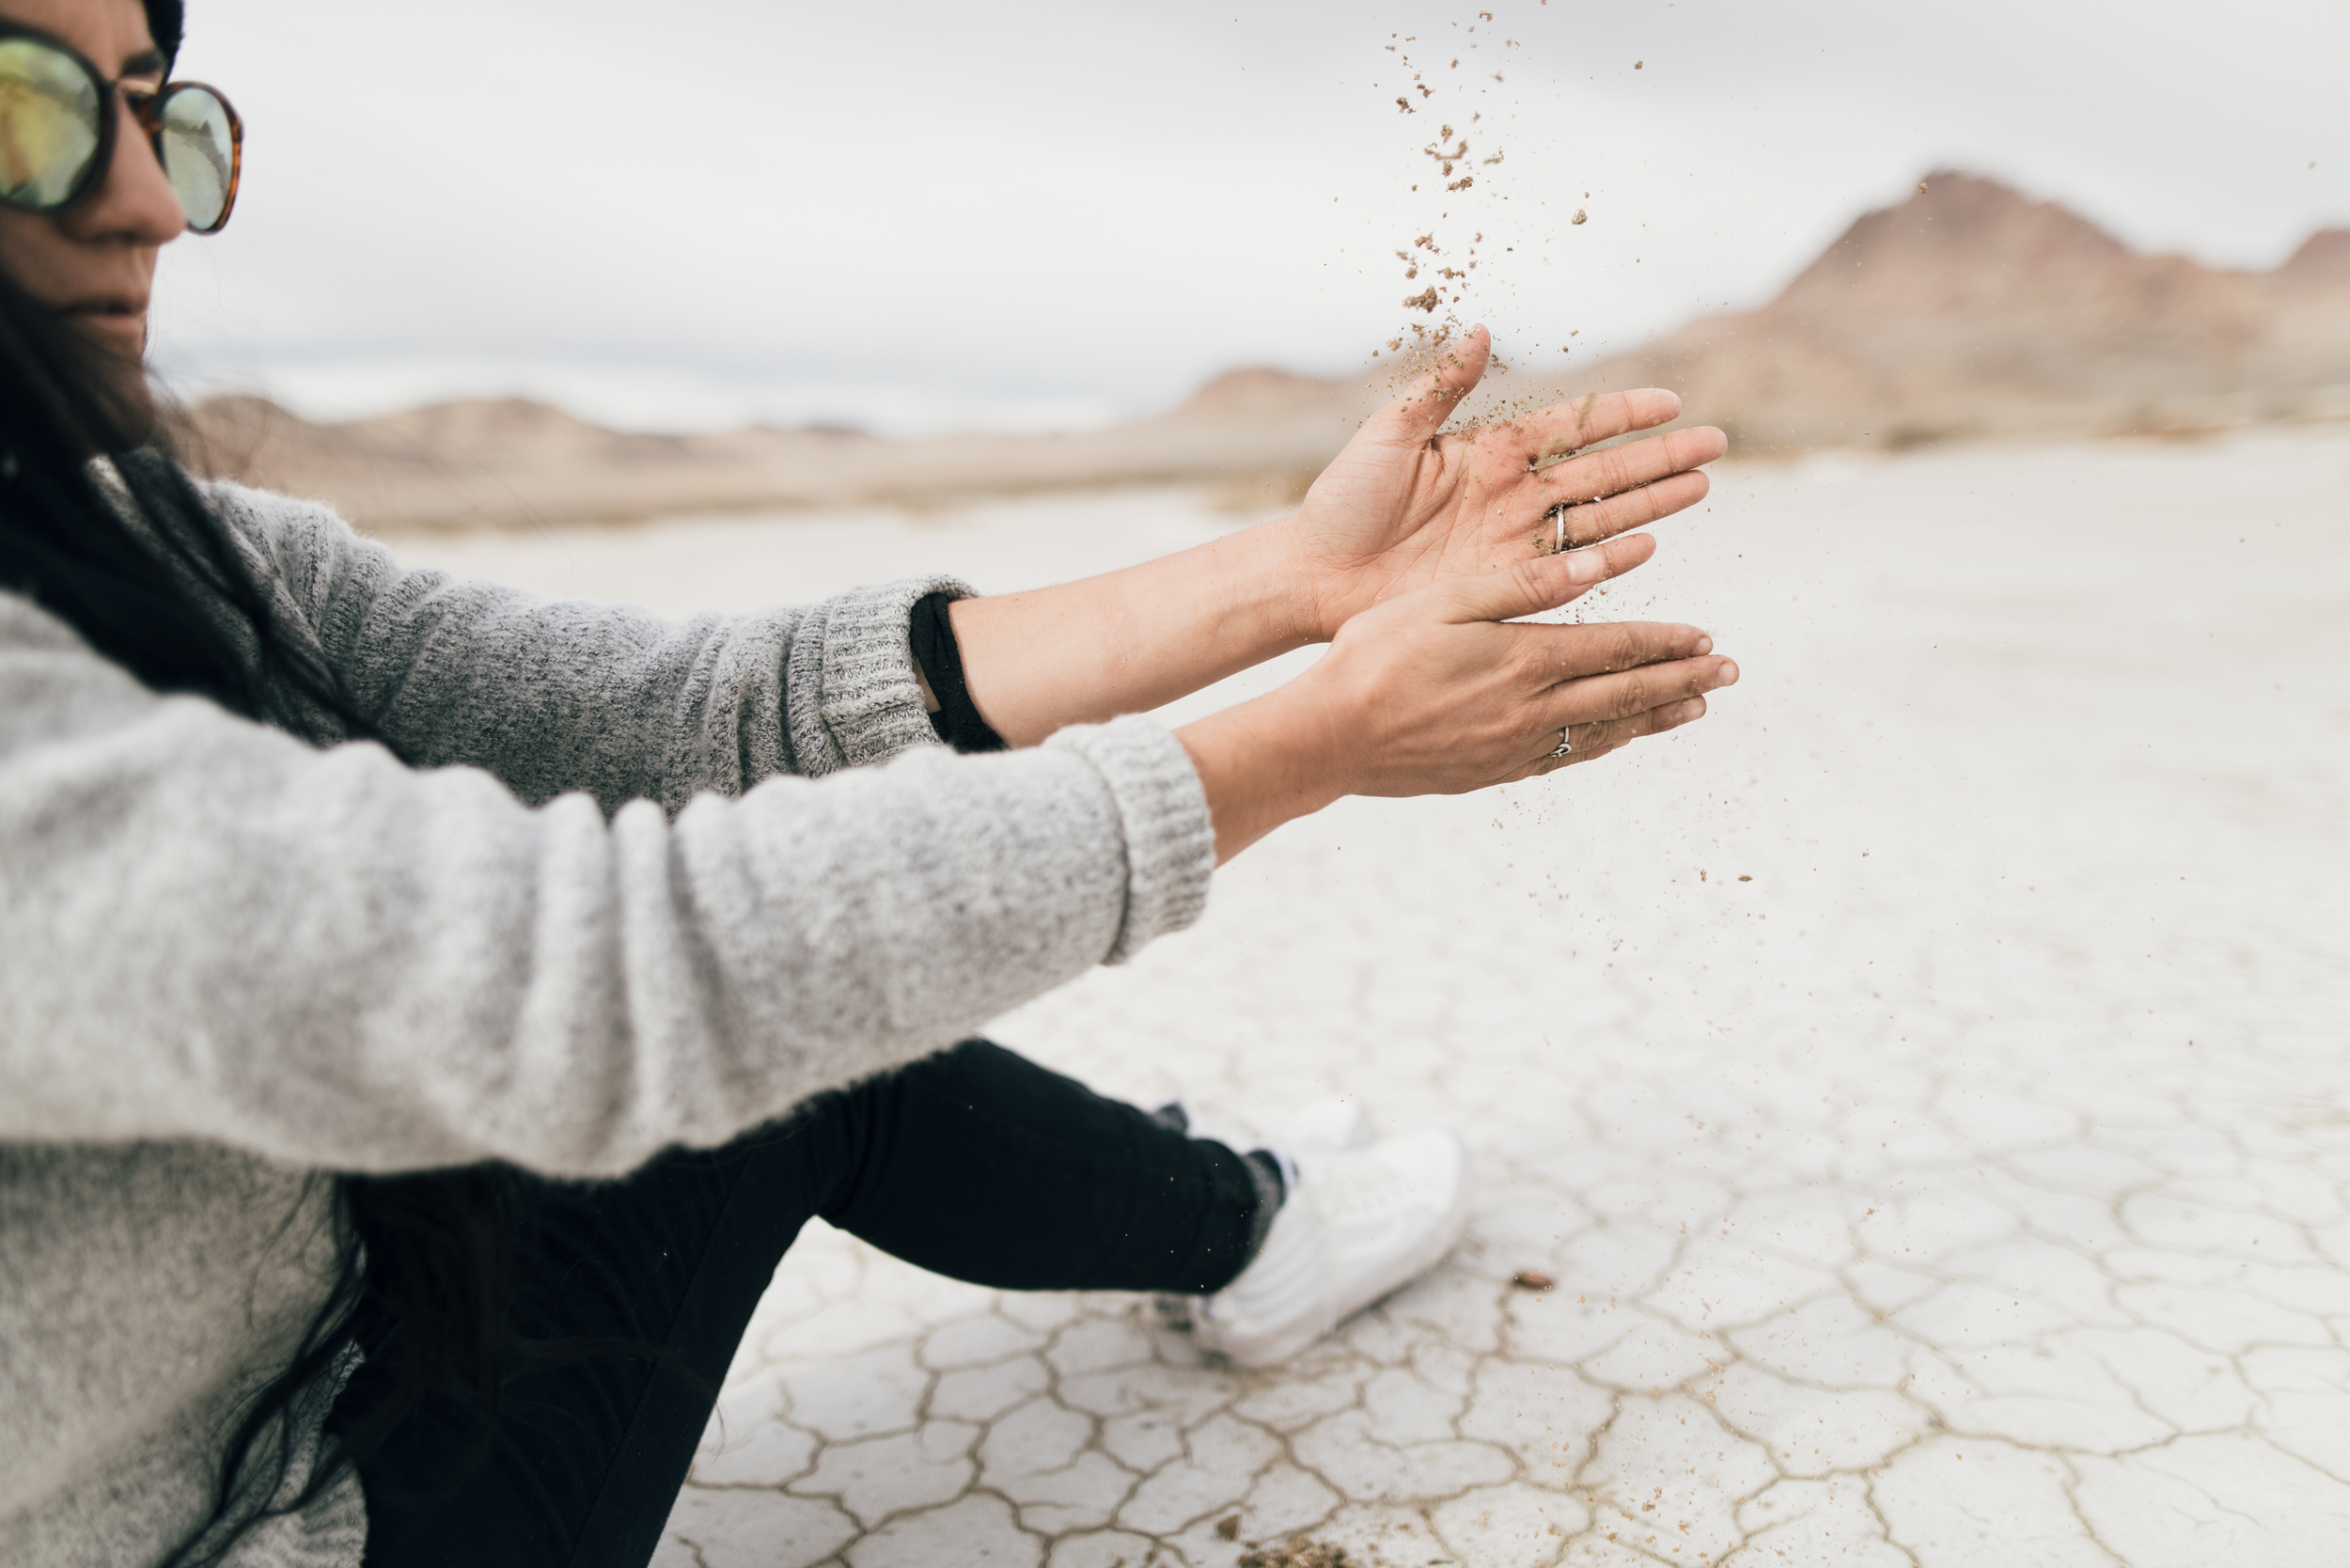
M 188 228 L 219 233 L 237 205 L 244 122 L 202 82 L 108 82 L 73 47 L 0 24 L 0 205 L 63 212 L 115 158 L 115 92 L 155 146 Z

